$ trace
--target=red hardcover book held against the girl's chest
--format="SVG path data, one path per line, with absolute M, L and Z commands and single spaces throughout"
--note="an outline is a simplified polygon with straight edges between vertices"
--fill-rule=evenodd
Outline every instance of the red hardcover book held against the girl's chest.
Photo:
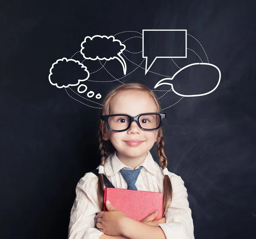
M 156 210 L 159 213 L 155 220 L 163 217 L 163 193 L 105 188 L 103 207 L 105 212 L 108 211 L 106 208 L 107 200 L 111 202 L 114 208 L 139 222 Z

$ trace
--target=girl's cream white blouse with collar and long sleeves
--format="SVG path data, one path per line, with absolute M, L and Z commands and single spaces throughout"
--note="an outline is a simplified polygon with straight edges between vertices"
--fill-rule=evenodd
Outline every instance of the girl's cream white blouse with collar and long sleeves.
M 143 168 L 135 183 L 137 189 L 163 193 L 163 170 L 154 161 L 150 151 L 140 165 Z M 139 168 L 140 165 L 135 169 Z M 120 174 L 120 169 L 133 170 L 133 168 L 124 165 L 116 156 L 116 152 L 108 156 L 104 168 L 106 177 L 115 188 L 126 189 L 128 187 L 127 182 Z M 173 189 L 172 203 L 164 214 L 166 222 L 160 223 L 158 226 L 162 228 L 166 239 L 195 239 L 192 214 L 184 181 L 172 172 L 169 172 L 169 177 Z M 98 217 L 96 213 L 101 211 L 97 204 L 97 182 L 98 177 L 89 172 L 76 185 L 76 199 L 70 213 L 68 239 L 99 239 L 103 234 L 96 228 Z

